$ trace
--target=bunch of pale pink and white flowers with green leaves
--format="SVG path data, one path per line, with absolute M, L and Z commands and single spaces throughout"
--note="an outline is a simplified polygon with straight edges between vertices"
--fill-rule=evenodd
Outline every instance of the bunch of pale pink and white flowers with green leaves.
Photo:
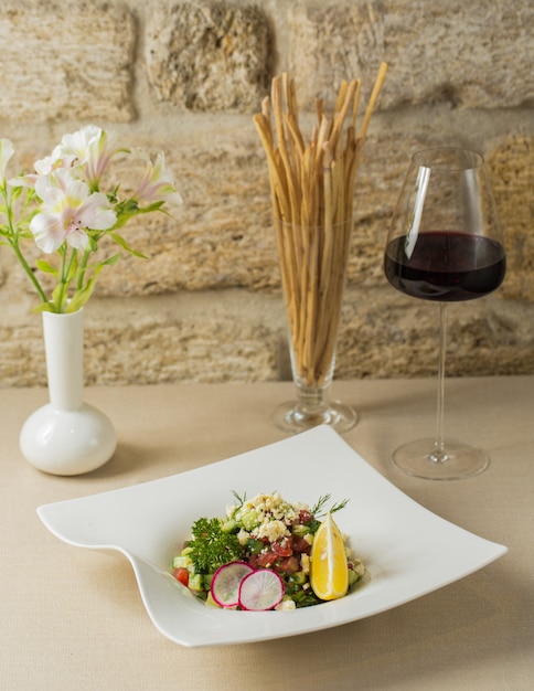
M 50 156 L 34 163 L 31 173 L 7 180 L 13 145 L 0 139 L 0 241 L 12 247 L 36 289 L 38 310 L 60 313 L 83 307 L 104 267 L 114 266 L 122 253 L 145 256 L 122 236 L 127 223 L 139 214 L 167 213 L 167 202 L 182 203 L 164 157 L 152 162 L 142 151 L 146 170 L 135 196 L 119 195 L 120 184 L 104 179 L 111 158 L 119 153 L 126 159 L 131 151 L 119 148 L 114 134 L 88 125 L 65 135 Z M 31 234 L 40 249 L 58 256 L 29 262 L 23 245 Z M 104 237 L 118 252 L 96 254 Z M 56 281 L 54 288 L 41 283 L 41 273 L 49 283 Z

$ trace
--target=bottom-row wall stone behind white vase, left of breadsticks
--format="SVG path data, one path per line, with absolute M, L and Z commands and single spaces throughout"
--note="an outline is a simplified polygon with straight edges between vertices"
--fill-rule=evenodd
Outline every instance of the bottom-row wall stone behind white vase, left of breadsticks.
M 0 385 L 45 386 L 41 315 L 12 311 L 0 325 Z M 279 316 L 277 299 L 232 291 L 94 299 L 84 316 L 85 382 L 276 380 Z

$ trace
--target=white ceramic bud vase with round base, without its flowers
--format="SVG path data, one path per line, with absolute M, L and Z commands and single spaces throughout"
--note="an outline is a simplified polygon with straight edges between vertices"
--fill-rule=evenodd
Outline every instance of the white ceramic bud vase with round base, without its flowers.
M 109 418 L 84 403 L 83 309 L 43 312 L 50 403 L 35 411 L 20 433 L 24 458 L 44 472 L 81 475 L 106 464 L 117 437 Z

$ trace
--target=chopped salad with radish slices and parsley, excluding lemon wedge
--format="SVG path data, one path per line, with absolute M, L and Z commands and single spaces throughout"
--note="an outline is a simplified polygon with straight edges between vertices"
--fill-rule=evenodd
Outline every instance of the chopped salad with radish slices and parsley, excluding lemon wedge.
M 330 508 L 330 496 L 313 507 L 288 502 L 279 492 L 253 499 L 233 492 L 224 517 L 200 518 L 191 528 L 172 573 L 209 605 L 232 609 L 295 609 L 324 600 L 313 592 L 310 554 L 314 534 Z M 343 536 L 349 589 L 365 573 Z

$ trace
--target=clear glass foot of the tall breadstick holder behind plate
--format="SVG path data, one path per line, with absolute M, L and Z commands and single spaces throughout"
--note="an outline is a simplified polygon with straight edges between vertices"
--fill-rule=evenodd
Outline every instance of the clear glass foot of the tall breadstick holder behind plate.
M 298 434 L 318 425 L 329 425 L 335 432 L 348 432 L 357 421 L 355 411 L 340 401 L 329 401 L 325 406 L 308 408 L 298 401 L 288 401 L 275 408 L 271 419 L 284 432 Z

